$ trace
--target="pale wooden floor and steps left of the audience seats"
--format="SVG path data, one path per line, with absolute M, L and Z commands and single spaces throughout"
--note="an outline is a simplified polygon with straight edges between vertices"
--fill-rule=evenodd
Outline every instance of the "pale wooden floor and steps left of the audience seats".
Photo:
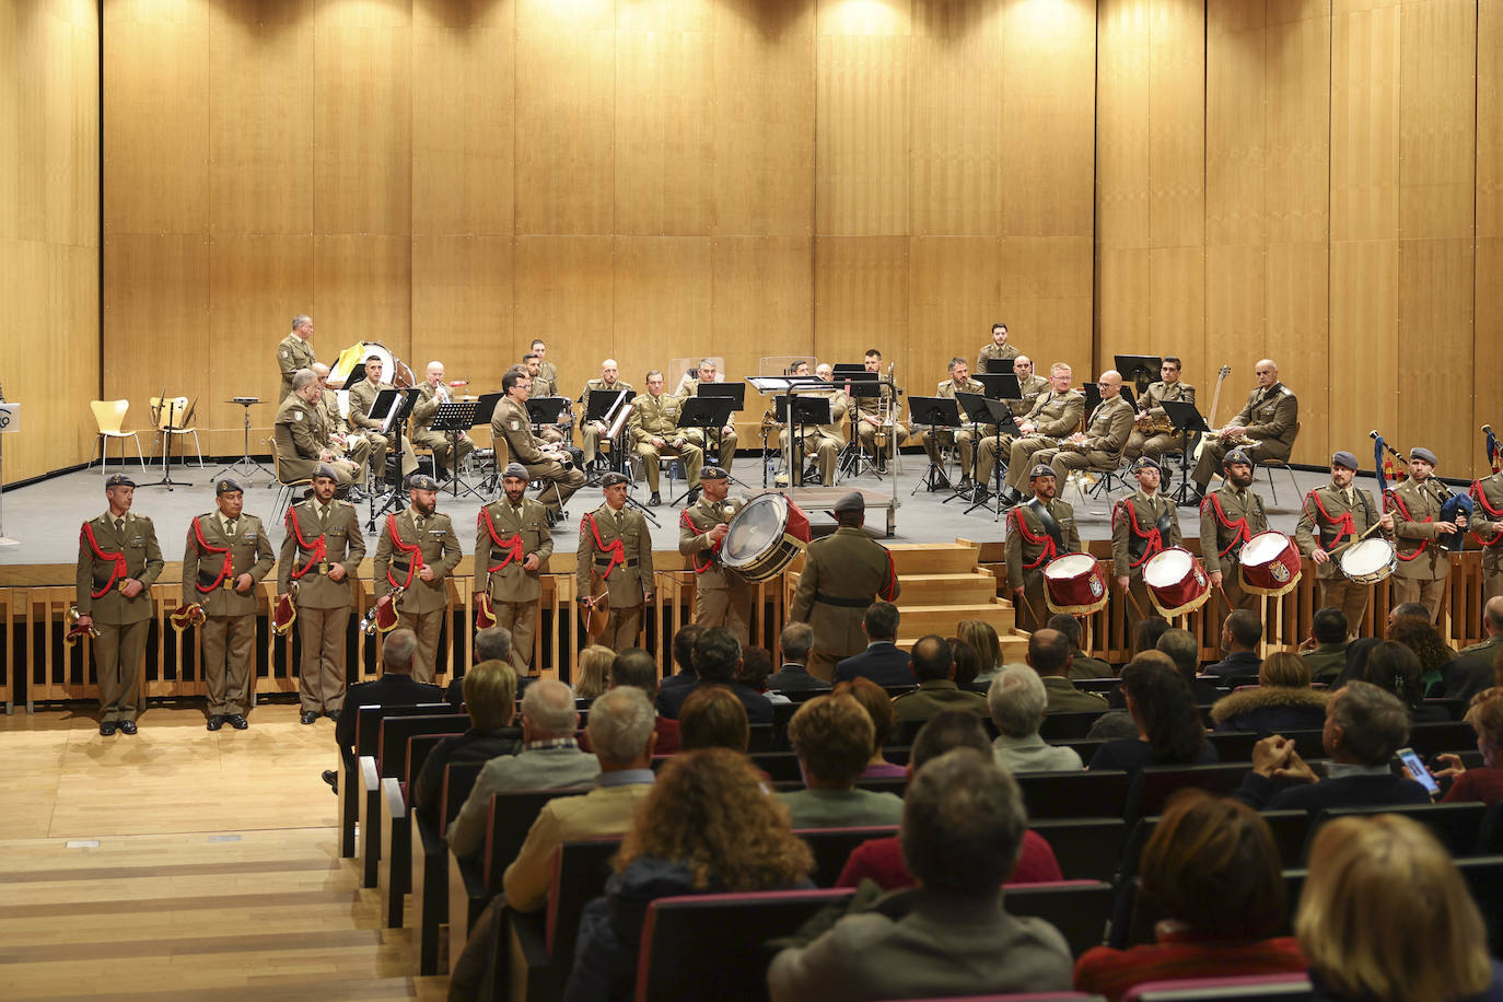
M 329 721 L 263 705 L 245 732 L 197 711 L 140 723 L 0 718 L 0 994 L 445 996 L 338 858 Z

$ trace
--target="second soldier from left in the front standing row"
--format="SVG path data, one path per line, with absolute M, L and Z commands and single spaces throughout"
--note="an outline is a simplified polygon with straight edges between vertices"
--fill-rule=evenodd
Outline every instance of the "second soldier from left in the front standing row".
M 225 721 L 245 730 L 256 658 L 256 584 L 277 557 L 266 527 L 245 514 L 245 494 L 230 478 L 215 482 L 218 511 L 195 515 L 183 544 L 183 604 L 203 607 L 203 679 L 209 730 Z

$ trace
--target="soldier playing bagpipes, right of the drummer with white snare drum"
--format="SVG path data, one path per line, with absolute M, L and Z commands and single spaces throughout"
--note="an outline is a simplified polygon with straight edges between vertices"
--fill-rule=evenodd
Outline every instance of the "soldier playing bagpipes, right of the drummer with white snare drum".
M 1440 538 L 1467 527 L 1465 515 L 1456 515 L 1453 523 L 1440 521 L 1446 488 L 1431 482 L 1437 464 L 1429 449 L 1410 449 L 1408 479 L 1390 488 L 1384 499 L 1384 509 L 1393 515 L 1399 557 L 1389 596 L 1395 605 L 1423 602 L 1432 622 L 1440 616 L 1450 574 L 1450 556 Z

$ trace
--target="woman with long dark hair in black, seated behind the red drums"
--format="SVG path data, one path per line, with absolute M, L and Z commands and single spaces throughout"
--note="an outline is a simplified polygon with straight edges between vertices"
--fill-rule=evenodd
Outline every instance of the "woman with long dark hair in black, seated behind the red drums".
M 1216 762 L 1216 747 L 1205 739 L 1201 711 L 1190 685 L 1168 655 L 1147 650 L 1123 669 L 1127 715 L 1138 724 L 1136 738 L 1108 741 L 1091 756 L 1091 769 L 1202 765 Z

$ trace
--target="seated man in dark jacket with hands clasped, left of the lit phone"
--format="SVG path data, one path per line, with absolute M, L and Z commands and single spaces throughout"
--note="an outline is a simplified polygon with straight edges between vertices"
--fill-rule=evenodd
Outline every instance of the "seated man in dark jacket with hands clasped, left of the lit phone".
M 1273 735 L 1252 747 L 1252 772 L 1237 798 L 1257 810 L 1429 804 L 1414 780 L 1393 775 L 1389 760 L 1408 739 L 1408 714 L 1392 693 L 1368 682 L 1347 682 L 1326 705 L 1321 747 L 1330 757 L 1320 778 L 1294 751 L 1294 742 Z

